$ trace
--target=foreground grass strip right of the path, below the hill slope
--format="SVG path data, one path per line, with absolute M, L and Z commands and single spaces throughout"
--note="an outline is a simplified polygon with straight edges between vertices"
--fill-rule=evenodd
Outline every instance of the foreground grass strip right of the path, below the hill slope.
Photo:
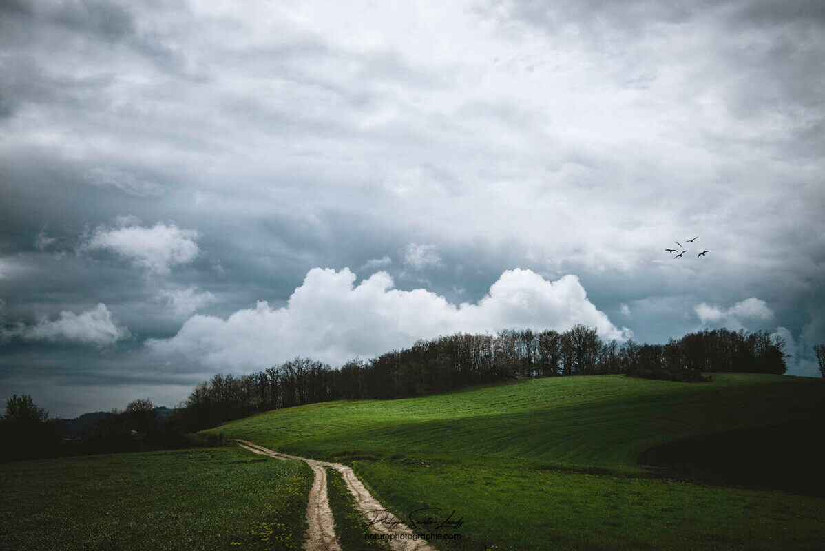
M 397 515 L 464 520 L 442 549 L 822 549 L 825 500 L 656 478 L 358 462 Z M 431 530 L 426 530 L 431 533 Z M 493 547 L 495 546 L 495 547 Z

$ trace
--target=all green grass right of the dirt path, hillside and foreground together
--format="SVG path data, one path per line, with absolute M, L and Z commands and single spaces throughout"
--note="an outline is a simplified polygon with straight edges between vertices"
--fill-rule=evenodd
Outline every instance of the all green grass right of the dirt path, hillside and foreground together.
M 464 516 L 441 549 L 818 549 L 825 500 L 656 478 L 669 440 L 821 419 L 825 381 L 714 374 L 532 379 L 425 398 L 313 404 L 213 429 L 351 464 L 391 511 Z

